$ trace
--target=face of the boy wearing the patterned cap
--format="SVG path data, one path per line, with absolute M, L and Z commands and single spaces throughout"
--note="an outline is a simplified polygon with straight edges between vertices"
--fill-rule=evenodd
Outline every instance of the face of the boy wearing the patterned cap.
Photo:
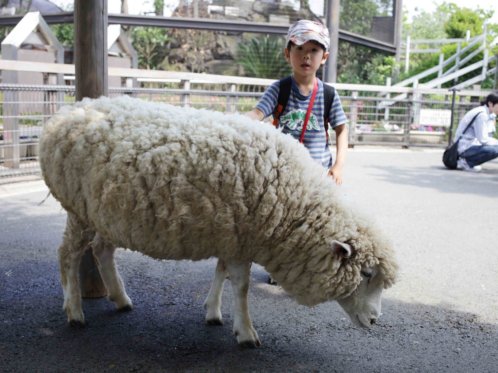
M 329 52 L 324 52 L 320 43 L 314 40 L 307 41 L 303 45 L 293 44 L 290 52 L 285 48 L 285 59 L 290 62 L 294 74 L 303 76 L 315 75 L 328 56 Z

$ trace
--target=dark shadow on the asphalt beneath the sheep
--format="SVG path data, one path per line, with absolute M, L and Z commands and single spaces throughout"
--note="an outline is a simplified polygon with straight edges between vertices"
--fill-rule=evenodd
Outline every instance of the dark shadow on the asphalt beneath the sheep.
M 497 325 L 449 305 L 387 298 L 370 331 L 353 327 L 336 302 L 298 306 L 254 266 L 253 323 L 262 347 L 241 350 L 232 333 L 227 281 L 224 326 L 204 324 L 202 303 L 215 261 L 164 262 L 121 251 L 118 263 L 135 309 L 118 313 L 85 299 L 88 326 L 62 310 L 55 257 L 9 267 L 0 282 L 0 359 L 5 372 L 493 372 Z M 7 270 L 1 266 L 2 275 Z M 478 353 L 476 353 L 476 351 Z

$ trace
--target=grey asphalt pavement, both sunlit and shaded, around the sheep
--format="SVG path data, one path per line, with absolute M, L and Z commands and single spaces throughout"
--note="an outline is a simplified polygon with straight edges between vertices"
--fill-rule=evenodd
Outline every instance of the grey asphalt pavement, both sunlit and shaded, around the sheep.
M 441 150 L 349 151 L 341 193 L 391 237 L 400 278 L 371 330 L 337 302 L 297 305 L 253 266 L 262 342 L 238 347 L 230 282 L 224 326 L 204 323 L 216 260 L 156 261 L 119 249 L 135 309 L 84 299 L 67 324 L 57 262 L 66 213 L 36 178 L 0 180 L 0 372 L 498 372 L 498 161 L 446 170 Z

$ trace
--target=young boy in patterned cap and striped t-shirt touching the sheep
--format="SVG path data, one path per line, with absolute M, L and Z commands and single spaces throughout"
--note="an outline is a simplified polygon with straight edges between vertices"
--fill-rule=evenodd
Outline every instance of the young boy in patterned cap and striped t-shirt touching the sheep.
M 282 132 L 289 133 L 299 140 L 303 129 L 304 114 L 308 109 L 315 82 L 318 82 L 318 91 L 304 133 L 303 144 L 316 162 L 330 169 L 328 176 L 332 176 L 334 182 L 340 185 L 348 149 L 346 129 L 348 119 L 341 106 L 339 95 L 335 92 L 328 115 L 330 126 L 336 132 L 337 155 L 336 162 L 332 165 L 332 154 L 327 144 L 323 118 L 323 83 L 316 78 L 316 71 L 329 56 L 329 30 L 321 23 L 299 20 L 289 27 L 286 44 L 285 59 L 290 62 L 294 73 L 291 77 L 290 96 L 285 109 L 280 113 L 277 126 L 282 128 Z M 270 114 L 274 114 L 278 105 L 279 86 L 280 81 L 269 86 L 256 107 L 245 115 L 261 121 Z M 288 115 L 289 113 L 293 115 Z

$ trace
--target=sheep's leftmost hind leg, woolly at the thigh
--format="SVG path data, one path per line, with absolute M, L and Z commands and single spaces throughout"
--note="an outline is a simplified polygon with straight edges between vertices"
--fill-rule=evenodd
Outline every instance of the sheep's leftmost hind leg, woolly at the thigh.
M 85 326 L 78 270 L 83 252 L 94 234 L 93 229 L 88 228 L 74 213 L 68 211 L 66 230 L 59 246 L 59 268 L 64 293 L 64 311 L 69 324 L 77 328 Z

